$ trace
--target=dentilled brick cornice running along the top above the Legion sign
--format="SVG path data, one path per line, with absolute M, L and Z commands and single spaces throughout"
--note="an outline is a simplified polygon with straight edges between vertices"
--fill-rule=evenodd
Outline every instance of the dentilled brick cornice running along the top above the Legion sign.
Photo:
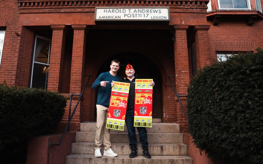
M 162 7 L 186 9 L 203 9 L 206 13 L 209 0 L 18 0 L 19 9 L 63 9 L 63 8 L 95 8 L 107 6 L 129 7 Z M 172 11 L 171 11 L 172 12 Z

